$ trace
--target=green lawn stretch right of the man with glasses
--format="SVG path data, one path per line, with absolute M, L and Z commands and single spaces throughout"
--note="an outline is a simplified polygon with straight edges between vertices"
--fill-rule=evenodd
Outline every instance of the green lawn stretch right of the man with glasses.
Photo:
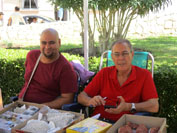
M 155 63 L 177 65 L 177 37 L 131 39 L 134 48 L 153 54 Z

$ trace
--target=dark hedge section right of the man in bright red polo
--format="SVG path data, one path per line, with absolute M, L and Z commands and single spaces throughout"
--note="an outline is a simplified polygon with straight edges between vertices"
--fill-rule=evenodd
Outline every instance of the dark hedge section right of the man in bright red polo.
M 176 132 L 177 121 L 177 67 L 162 65 L 155 70 L 154 81 L 160 103 L 159 117 L 167 118 L 168 132 Z

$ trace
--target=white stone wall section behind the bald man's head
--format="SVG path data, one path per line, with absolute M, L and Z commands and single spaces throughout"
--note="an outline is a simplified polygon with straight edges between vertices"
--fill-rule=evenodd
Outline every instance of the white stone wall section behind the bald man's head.
M 13 46 L 39 45 L 41 32 L 46 28 L 54 28 L 59 32 L 61 43 L 81 43 L 81 28 L 78 23 L 58 21 L 51 23 L 28 24 L 0 27 L 0 44 L 13 43 Z

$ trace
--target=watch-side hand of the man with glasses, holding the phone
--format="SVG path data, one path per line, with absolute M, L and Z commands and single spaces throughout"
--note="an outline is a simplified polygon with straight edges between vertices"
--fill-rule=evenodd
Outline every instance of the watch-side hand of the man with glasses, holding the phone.
M 120 104 L 117 106 L 117 108 L 105 109 L 106 112 L 110 114 L 119 114 L 123 111 L 128 111 L 129 108 L 131 108 L 129 103 L 126 103 L 122 96 L 118 96 L 117 98 L 120 99 Z

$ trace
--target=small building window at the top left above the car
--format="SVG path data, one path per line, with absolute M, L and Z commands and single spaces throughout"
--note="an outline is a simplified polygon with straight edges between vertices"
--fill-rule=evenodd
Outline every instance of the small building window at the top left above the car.
M 36 9 L 37 0 L 23 0 L 23 8 L 24 9 Z

